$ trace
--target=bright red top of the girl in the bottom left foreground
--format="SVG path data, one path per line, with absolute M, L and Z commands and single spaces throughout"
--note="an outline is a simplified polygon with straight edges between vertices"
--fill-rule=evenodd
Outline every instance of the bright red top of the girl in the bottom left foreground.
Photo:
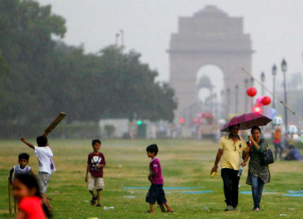
M 42 208 L 42 200 L 37 196 L 22 199 L 19 203 L 19 211 L 25 213 L 25 219 L 45 219 Z

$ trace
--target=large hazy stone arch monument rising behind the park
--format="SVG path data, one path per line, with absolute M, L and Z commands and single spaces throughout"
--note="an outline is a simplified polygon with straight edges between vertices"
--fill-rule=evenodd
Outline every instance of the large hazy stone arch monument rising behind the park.
M 251 71 L 254 51 L 250 35 L 243 32 L 243 18 L 230 17 L 215 6 L 206 6 L 193 16 L 179 17 L 177 31 L 172 33 L 167 50 L 170 85 L 179 102 L 175 118 L 186 117 L 189 111 L 198 112 L 198 91 L 215 86 L 216 82 L 210 85 L 207 77 L 196 83 L 199 69 L 206 65 L 217 66 L 223 73 L 221 108 L 228 113 L 244 113 L 249 76 L 241 69 Z

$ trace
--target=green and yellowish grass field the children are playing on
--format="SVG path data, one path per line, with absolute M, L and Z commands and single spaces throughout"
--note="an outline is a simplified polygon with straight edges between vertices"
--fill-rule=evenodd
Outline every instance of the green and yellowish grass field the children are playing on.
M 33 141 L 31 141 L 33 142 Z M 148 210 L 145 194 L 149 187 L 148 159 L 145 148 L 158 143 L 158 158 L 162 165 L 165 187 L 194 187 L 165 190 L 174 213 Z M 86 189 L 85 167 L 92 151 L 90 140 L 53 140 L 57 172 L 52 174 L 47 196 L 52 198 L 54 218 L 302 218 L 303 197 L 283 196 L 288 190 L 303 190 L 302 162 L 278 161 L 271 165 L 271 183 L 264 186 L 261 211 L 253 212 L 251 194 L 239 194 L 238 211 L 225 213 L 222 179 L 217 174 L 210 179 L 217 145 L 210 141 L 186 140 L 105 140 L 101 151 L 105 154 L 105 190 L 101 192 L 102 208 L 90 206 Z M 0 141 L 0 218 L 8 214 L 8 172 L 18 164 L 18 154 L 30 154 L 30 167 L 38 172 L 37 158 L 32 149 L 20 141 Z M 240 181 L 240 191 L 251 191 L 245 184 L 247 168 Z M 184 194 L 184 191 L 213 191 L 206 194 Z M 267 192 L 267 193 L 266 193 Z M 103 206 L 114 206 L 104 210 Z

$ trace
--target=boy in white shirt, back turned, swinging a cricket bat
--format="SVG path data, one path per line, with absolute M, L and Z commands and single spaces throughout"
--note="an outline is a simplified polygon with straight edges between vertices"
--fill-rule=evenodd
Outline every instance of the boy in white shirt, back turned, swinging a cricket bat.
M 33 146 L 32 143 L 26 141 L 24 137 L 21 137 L 20 140 L 35 150 L 39 162 L 38 183 L 40 187 L 40 193 L 42 195 L 42 201 L 49 208 L 52 208 L 51 204 L 47 201 L 45 193 L 47 191 L 50 175 L 52 172 L 56 171 L 56 168 L 54 167 L 54 161 L 52 160 L 54 154 L 52 153 L 51 148 L 49 148 L 47 137 L 45 134 L 43 136 L 37 136 L 38 146 Z

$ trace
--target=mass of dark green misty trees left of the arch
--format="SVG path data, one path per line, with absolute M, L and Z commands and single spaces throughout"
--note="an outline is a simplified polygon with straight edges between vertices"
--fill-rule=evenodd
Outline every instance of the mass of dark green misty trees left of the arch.
M 52 40 L 64 37 L 66 26 L 51 6 L 1 0 L 0 29 L 1 137 L 42 134 L 61 111 L 68 123 L 174 119 L 174 90 L 155 82 L 158 72 L 141 63 L 141 54 L 114 45 L 84 54 Z

